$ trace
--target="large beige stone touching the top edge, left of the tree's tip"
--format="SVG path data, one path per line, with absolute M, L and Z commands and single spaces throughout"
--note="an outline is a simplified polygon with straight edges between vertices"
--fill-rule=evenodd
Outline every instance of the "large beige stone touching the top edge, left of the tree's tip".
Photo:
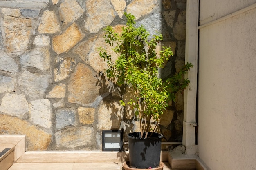
M 110 25 L 116 16 L 110 0 L 87 0 L 86 13 L 85 29 L 90 33 L 98 33 L 101 28 Z

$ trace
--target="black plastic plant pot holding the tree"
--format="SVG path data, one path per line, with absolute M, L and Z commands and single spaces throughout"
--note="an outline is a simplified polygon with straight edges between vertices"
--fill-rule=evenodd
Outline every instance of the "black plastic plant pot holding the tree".
M 130 168 L 157 168 L 160 165 L 162 137 L 160 133 L 153 133 L 150 138 L 141 138 L 141 132 L 129 133 Z

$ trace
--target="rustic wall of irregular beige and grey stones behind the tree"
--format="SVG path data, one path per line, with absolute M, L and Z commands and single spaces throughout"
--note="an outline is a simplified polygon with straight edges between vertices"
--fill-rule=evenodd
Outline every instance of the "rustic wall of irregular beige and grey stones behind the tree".
M 105 81 L 103 28 L 121 30 L 124 12 L 164 35 L 184 64 L 186 0 L 0 1 L 0 133 L 25 134 L 27 150 L 101 150 L 101 130 L 139 129 Z M 110 50 L 110 49 L 108 49 Z M 182 141 L 183 95 L 163 115 L 163 141 Z M 126 140 L 126 139 L 125 139 Z

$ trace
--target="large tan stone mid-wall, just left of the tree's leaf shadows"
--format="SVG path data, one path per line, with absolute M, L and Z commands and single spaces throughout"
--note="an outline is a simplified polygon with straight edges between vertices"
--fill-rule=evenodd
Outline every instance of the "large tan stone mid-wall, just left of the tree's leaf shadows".
M 67 86 L 69 92 L 68 102 L 83 106 L 94 102 L 100 94 L 99 88 L 96 86 L 97 78 L 95 75 L 97 73 L 88 68 L 88 66 L 79 63 Z

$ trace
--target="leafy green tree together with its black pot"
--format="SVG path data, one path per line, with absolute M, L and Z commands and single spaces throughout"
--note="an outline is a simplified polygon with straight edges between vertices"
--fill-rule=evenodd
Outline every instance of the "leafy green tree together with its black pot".
M 162 46 L 157 53 L 156 46 L 163 40 L 162 35 L 153 35 L 149 40 L 144 26 L 136 28 L 135 17 L 124 15 L 127 23 L 121 34 L 115 33 L 112 26 L 105 29 L 106 44 L 112 46 L 118 58 L 114 60 L 103 47 L 99 48 L 99 55 L 108 65 L 106 76 L 134 95 L 120 101 L 123 106 L 130 106 L 140 121 L 140 132 L 128 134 L 130 167 L 156 168 L 160 164 L 163 135 L 155 130 L 168 103 L 175 101 L 175 93 L 188 86 L 189 79 L 184 79 L 184 74 L 193 65 L 187 63 L 172 77 L 159 78 L 159 68 L 173 55 L 171 48 Z

